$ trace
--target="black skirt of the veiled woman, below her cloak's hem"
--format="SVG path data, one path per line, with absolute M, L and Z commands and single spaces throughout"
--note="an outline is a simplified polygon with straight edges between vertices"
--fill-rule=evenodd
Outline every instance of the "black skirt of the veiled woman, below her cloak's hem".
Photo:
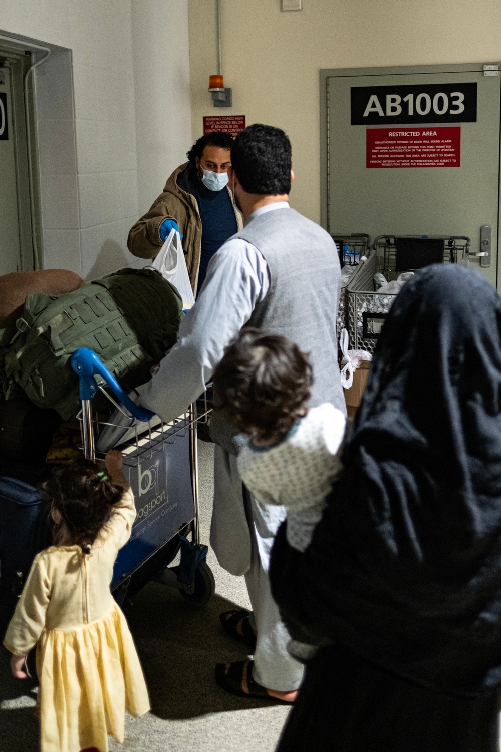
M 433 693 L 341 644 L 307 664 L 276 752 L 498 752 L 499 702 Z

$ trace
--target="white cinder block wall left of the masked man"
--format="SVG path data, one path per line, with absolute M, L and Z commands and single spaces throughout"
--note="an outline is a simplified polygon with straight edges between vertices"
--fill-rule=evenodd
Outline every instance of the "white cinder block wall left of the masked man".
M 191 142 L 187 0 L 2 0 L 0 29 L 58 45 L 35 79 L 44 268 L 143 265 L 128 230 Z

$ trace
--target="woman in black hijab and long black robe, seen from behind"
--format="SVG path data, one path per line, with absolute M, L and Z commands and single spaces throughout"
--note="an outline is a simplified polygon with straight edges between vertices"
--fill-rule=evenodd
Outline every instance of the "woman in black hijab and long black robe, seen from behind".
M 418 271 L 391 308 L 312 543 L 271 560 L 324 645 L 279 752 L 495 752 L 501 682 L 501 299 Z

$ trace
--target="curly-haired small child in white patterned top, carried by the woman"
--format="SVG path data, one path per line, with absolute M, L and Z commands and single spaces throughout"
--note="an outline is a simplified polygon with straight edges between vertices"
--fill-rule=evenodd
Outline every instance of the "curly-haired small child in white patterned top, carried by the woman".
M 303 552 L 341 470 L 344 414 L 306 408 L 313 381 L 307 356 L 285 337 L 244 328 L 214 373 L 214 409 L 249 435 L 238 456 L 258 502 L 287 508 L 287 540 Z

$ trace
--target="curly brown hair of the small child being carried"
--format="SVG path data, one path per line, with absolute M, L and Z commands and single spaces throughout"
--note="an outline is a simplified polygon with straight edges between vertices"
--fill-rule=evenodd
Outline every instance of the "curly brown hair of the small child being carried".
M 214 372 L 214 410 L 239 431 L 281 441 L 306 413 L 308 356 L 285 337 L 245 327 Z

